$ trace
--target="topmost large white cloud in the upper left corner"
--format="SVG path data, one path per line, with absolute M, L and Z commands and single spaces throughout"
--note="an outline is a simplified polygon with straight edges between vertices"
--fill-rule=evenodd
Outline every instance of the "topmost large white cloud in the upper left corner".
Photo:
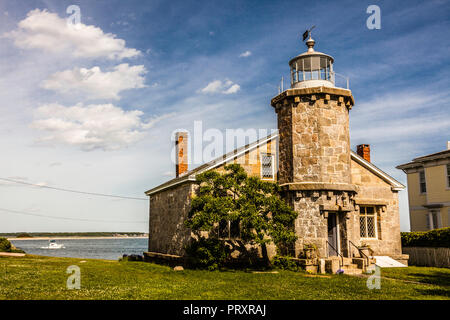
M 69 25 L 56 13 L 35 9 L 18 23 L 18 28 L 4 36 L 24 49 L 41 49 L 52 53 L 66 53 L 80 58 L 123 59 L 141 54 L 127 48 L 125 40 L 104 33 L 102 29 L 79 23 Z

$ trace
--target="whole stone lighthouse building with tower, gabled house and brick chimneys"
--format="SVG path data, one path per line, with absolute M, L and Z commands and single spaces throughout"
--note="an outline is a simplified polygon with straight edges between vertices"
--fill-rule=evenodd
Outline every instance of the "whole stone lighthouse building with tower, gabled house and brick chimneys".
M 318 256 L 353 258 L 372 254 L 407 262 L 402 255 L 398 192 L 400 182 L 370 162 L 370 146 L 350 149 L 352 92 L 336 86 L 331 56 L 308 51 L 290 62 L 291 87 L 271 100 L 278 133 L 187 171 L 186 134 L 177 135 L 177 177 L 146 194 L 150 198 L 149 252 L 183 256 L 192 234 L 184 226 L 195 193 L 195 176 L 239 163 L 249 175 L 278 182 L 298 212 L 294 255 L 314 244 Z M 183 170 L 179 170 L 182 168 Z M 271 248 L 269 255 L 275 255 Z

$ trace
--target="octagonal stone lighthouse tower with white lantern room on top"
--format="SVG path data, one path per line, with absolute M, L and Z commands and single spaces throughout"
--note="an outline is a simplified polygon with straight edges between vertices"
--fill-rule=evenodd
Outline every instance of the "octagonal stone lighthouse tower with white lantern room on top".
M 333 57 L 308 50 L 289 62 L 291 87 L 272 99 L 278 116 L 279 183 L 299 213 L 295 253 L 314 245 L 321 256 L 346 255 L 354 211 L 349 111 L 351 91 L 336 86 Z

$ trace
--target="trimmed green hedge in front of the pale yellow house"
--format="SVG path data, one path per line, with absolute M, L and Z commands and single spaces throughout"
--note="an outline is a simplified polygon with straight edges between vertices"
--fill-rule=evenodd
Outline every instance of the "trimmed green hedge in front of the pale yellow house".
M 403 247 L 446 247 L 450 248 L 450 228 L 431 231 L 402 232 Z

